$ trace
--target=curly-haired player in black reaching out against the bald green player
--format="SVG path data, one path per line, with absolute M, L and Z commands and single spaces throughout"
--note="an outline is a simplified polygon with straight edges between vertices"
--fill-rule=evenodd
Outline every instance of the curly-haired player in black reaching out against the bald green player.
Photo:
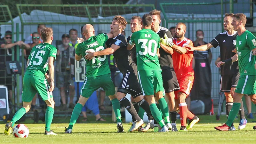
M 132 61 L 130 51 L 126 48 L 127 42 L 125 37 L 121 34 L 126 27 L 126 24 L 127 22 L 124 17 L 120 15 L 115 16 L 112 24 L 110 25 L 110 32 L 113 33 L 114 38 L 110 38 L 106 42 L 108 48 L 99 52 L 88 53 L 85 58 L 91 59 L 95 56 L 109 55 L 113 53 L 117 68 L 124 76 L 120 86 L 118 87 L 116 97 L 120 104 L 122 104 L 134 118 L 133 126 L 130 128 L 130 132 L 132 132 L 137 130 L 143 124 L 143 120 L 138 116 L 131 102 L 125 98 L 125 95 L 128 92 L 132 95 L 136 103 L 147 112 L 151 120 L 153 120 L 153 117 L 151 115 L 148 102 L 145 101 L 142 96 L 140 84 L 137 79 L 137 66 Z

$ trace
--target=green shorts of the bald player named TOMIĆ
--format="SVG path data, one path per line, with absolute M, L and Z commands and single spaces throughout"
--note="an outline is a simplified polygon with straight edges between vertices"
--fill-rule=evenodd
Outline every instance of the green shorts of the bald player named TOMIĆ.
M 116 89 L 111 80 L 110 73 L 102 76 L 86 77 L 80 95 L 89 98 L 92 93 L 99 88 L 103 88 L 107 96 L 116 94 Z

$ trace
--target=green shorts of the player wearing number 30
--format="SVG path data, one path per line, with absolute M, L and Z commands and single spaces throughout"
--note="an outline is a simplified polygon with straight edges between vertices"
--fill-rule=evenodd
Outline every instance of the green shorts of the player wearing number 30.
M 143 95 L 154 95 L 154 92 L 163 91 L 162 70 L 140 70 L 138 77 Z

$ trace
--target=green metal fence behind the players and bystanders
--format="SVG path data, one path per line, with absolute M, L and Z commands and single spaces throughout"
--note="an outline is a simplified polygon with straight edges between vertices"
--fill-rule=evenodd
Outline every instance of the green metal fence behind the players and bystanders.
M 128 25 L 125 28 L 125 33 L 126 36 L 129 36 L 131 35 L 129 22 L 132 16 L 143 16 L 143 14 L 155 9 L 154 4 L 17 4 L 16 6 L 19 17 L 12 19 L 8 6 L 0 5 L 1 33 L 4 34 L 5 31 L 10 30 L 13 36 L 12 42 L 22 40 L 25 43 L 32 43 L 31 34 L 38 31 L 37 27 L 39 24 L 44 24 L 47 27 L 53 28 L 54 46 L 62 44 L 61 36 L 63 34 L 69 34 L 69 30 L 72 28 L 75 28 L 78 37 L 81 37 L 81 27 L 87 23 L 94 26 L 96 34 L 108 32 L 109 24 L 115 15 L 122 15 L 126 18 Z M 159 3 L 159 6 L 162 11 L 163 22 L 161 25 L 170 28 L 171 26 L 175 26 L 177 22 L 185 23 L 187 25 L 185 36 L 192 41 L 196 40 L 196 30 L 202 29 L 204 31 L 204 41 L 207 43 L 224 31 L 223 14 L 228 12 L 243 12 L 248 18 L 252 20 L 254 18 L 254 3 L 252 0 L 239 2 L 232 0 L 216 2 L 211 0 L 197 3 L 186 2 L 184 0 L 179 3 Z M 200 7 L 204 7 L 204 13 L 200 12 Z M 220 92 L 220 74 L 219 69 L 214 65 L 214 61 L 220 52 L 219 48 L 212 48 L 211 50 L 212 98 L 215 100 L 214 103 L 217 103 L 216 101 L 219 99 Z M 24 57 L 24 51 L 21 51 L 19 46 L 12 48 L 12 53 L 14 51 L 16 55 L 12 55 L 12 60 L 19 60 L 22 66 L 22 76 L 17 78 L 17 101 L 20 106 L 22 77 L 26 70 L 26 59 Z M 6 55 L 2 55 L 1 53 L 1 56 Z M 3 63 L 1 61 L 1 64 Z M 5 69 L 2 69 L 1 73 L 5 73 L 4 71 Z M 5 81 L 4 85 L 6 84 Z M 58 88 L 55 89 L 54 98 L 57 99 L 55 100 L 56 106 L 60 105 L 60 92 Z

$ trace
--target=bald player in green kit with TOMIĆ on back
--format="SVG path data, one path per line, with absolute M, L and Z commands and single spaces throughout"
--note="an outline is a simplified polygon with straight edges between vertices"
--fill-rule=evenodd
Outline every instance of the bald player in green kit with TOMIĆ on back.
M 106 41 L 113 37 L 113 34 L 111 33 L 99 34 L 95 36 L 94 28 L 91 24 L 86 24 L 83 27 L 83 35 L 86 38 L 86 41 L 78 44 L 76 48 L 75 58 L 77 61 L 84 58 L 88 52 L 98 52 L 104 50 Z M 84 58 L 84 60 L 86 64 L 86 78 L 80 91 L 80 98 L 72 112 L 70 123 L 68 128 L 66 128 L 65 133 L 72 132 L 73 125 L 76 123 L 84 104 L 92 93 L 100 87 L 104 89 L 106 95 L 108 95 L 112 102 L 112 106 L 116 114 L 117 132 L 124 132 L 121 121 L 120 104 L 116 99 L 115 86 L 110 77 L 107 56 L 96 56 L 91 60 L 86 60 Z

